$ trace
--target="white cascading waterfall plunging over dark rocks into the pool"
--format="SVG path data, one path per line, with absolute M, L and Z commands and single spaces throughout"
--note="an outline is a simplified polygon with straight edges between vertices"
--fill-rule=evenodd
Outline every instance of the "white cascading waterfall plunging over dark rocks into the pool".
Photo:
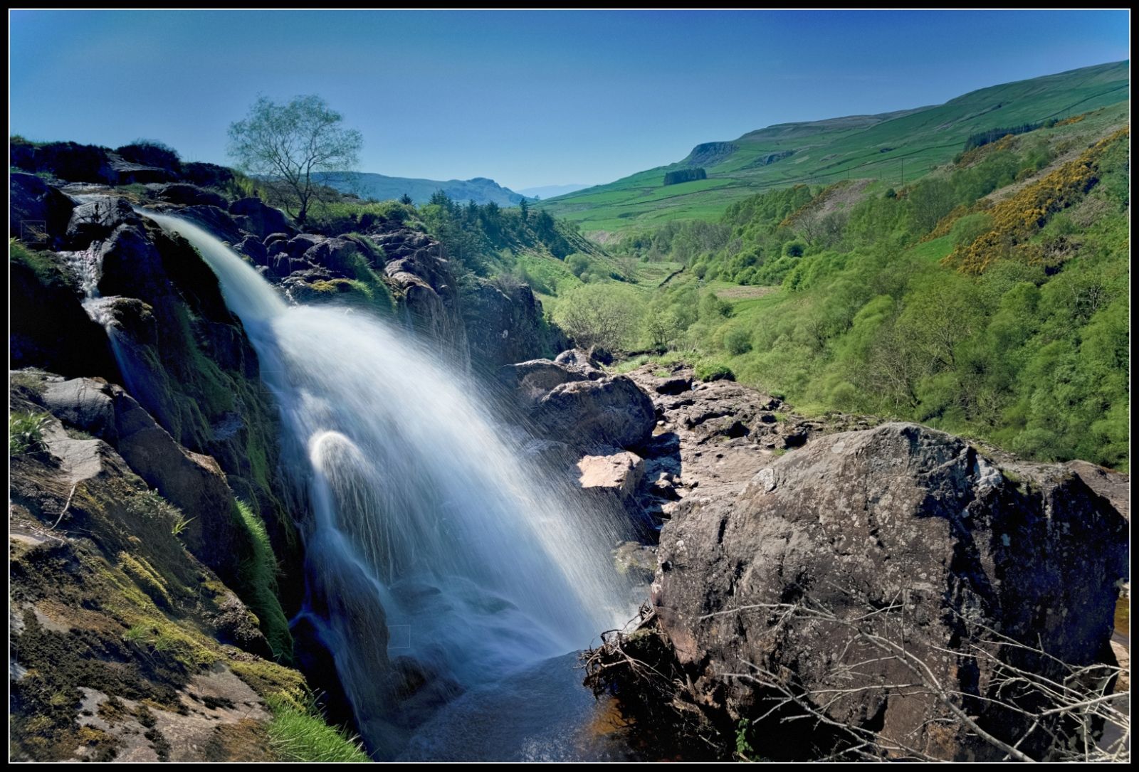
M 146 215 L 218 274 L 279 401 L 313 512 L 303 533 L 320 600 L 302 615 L 372 747 L 399 745 L 376 737 L 394 731 L 383 617 L 387 655 L 469 688 L 631 616 L 609 558 L 615 519 L 562 495 L 495 429 L 473 381 L 379 319 L 289 306 L 207 231 Z

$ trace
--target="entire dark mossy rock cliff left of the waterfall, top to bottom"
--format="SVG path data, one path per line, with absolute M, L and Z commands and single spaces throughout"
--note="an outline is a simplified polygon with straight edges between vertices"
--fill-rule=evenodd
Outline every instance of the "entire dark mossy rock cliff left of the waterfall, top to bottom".
M 276 716 L 320 723 L 272 662 L 293 657 L 303 502 L 244 328 L 137 189 L 10 188 L 14 755 L 279 758 Z M 146 190 L 241 232 L 216 194 Z

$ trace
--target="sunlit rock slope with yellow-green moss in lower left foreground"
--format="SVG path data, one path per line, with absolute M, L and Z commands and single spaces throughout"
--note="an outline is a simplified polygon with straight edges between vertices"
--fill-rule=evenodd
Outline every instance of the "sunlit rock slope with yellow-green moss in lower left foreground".
M 9 443 L 13 757 L 279 758 L 270 703 L 300 706 L 305 684 L 270 660 L 257 616 L 207 562 L 206 540 L 239 556 L 255 539 L 216 463 L 117 387 L 13 383 L 25 427 Z

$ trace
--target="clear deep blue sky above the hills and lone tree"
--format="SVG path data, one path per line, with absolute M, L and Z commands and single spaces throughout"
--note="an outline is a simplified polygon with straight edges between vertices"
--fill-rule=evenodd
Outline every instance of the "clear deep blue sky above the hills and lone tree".
M 1129 57 L 1126 11 L 14 11 L 11 129 L 224 163 L 257 95 L 318 93 L 362 171 L 608 182 L 772 123 Z

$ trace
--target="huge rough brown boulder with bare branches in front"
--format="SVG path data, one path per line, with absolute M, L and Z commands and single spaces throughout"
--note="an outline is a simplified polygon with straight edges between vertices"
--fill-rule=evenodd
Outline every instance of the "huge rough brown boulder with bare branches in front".
M 1003 757 L 980 726 L 1041 757 L 1056 726 L 1026 736 L 1002 677 L 1101 660 L 1128 526 L 1064 467 L 1006 477 L 961 440 L 886 424 L 817 437 L 738 496 L 688 496 L 658 560 L 661 630 L 697 701 L 729 720 L 790 693 L 887 755 Z M 826 744 L 814 718 L 776 726 L 754 728 L 761 754 Z

